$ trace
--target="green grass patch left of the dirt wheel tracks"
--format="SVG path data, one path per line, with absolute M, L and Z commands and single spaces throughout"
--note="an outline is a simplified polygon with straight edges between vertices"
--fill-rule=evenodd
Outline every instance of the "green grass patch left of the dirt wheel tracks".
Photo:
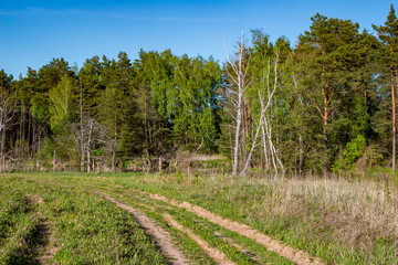
M 30 243 L 38 227 L 34 211 L 55 226 L 57 242 L 48 242 L 57 247 L 52 263 L 168 263 L 130 214 L 91 192 L 14 177 L 1 177 L 1 188 L 2 195 L 8 197 L 7 189 L 13 194 L 13 203 L 1 208 L 2 224 L 8 222 L 1 225 L 1 264 L 29 264 L 43 254 Z M 40 194 L 44 202 L 32 209 L 24 200 L 28 194 Z

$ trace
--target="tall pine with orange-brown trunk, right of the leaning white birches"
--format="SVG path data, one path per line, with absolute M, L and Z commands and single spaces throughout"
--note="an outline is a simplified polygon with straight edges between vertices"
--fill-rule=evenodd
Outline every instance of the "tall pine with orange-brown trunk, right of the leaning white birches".
M 333 157 L 329 148 L 331 118 L 338 117 L 338 98 L 348 84 L 349 65 L 355 54 L 353 47 L 359 41 L 359 25 L 350 20 L 327 19 L 318 13 L 311 20 L 311 30 L 300 35 L 296 52 L 303 64 L 302 92 L 321 116 L 322 134 L 318 139 L 323 145 L 318 152 L 326 176 Z

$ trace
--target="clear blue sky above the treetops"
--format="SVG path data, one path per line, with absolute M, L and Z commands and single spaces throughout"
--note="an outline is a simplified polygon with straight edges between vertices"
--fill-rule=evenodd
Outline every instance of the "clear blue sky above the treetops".
M 395 2 L 392 2 L 395 3 Z M 83 65 L 93 55 L 129 59 L 138 51 L 171 49 L 176 55 L 212 55 L 223 62 L 240 32 L 263 29 L 294 45 L 316 12 L 350 19 L 362 28 L 385 22 L 391 1 L 117 1 L 0 0 L 0 68 L 14 78 L 53 57 Z M 398 2 L 395 4 L 398 11 Z M 249 34 L 248 34 L 249 36 Z

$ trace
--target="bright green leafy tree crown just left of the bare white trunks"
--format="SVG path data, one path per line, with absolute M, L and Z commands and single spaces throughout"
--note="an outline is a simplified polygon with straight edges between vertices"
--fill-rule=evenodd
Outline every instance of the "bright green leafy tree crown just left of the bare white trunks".
M 174 89 L 168 100 L 174 136 L 181 147 L 197 148 L 206 135 L 216 129 L 217 89 L 221 83 L 220 66 L 210 57 L 174 57 Z M 210 137 L 213 134 L 210 132 Z M 209 147 L 208 141 L 205 146 Z

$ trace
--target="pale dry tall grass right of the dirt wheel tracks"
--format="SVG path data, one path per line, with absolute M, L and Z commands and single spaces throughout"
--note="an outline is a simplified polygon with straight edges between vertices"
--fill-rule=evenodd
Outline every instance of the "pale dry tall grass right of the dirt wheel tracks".
M 208 195 L 227 197 L 248 218 L 274 222 L 281 216 L 302 221 L 313 236 L 371 248 L 373 242 L 398 243 L 398 193 L 388 182 L 344 179 L 229 179 L 213 178 Z M 212 194 L 211 194 L 212 193 Z

